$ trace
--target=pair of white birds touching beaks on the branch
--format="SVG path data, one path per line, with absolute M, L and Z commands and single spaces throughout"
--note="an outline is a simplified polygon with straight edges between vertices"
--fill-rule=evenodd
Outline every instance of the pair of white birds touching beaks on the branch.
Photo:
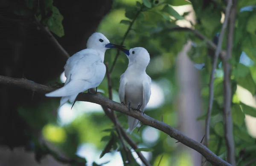
M 45 94 L 47 97 L 61 97 L 60 106 L 68 100 L 72 103 L 77 95 L 90 88 L 97 88 L 105 77 L 105 51 L 111 48 L 122 50 L 129 59 L 128 68 L 120 76 L 119 98 L 132 110 L 144 112 L 151 95 L 151 78 L 145 70 L 150 61 L 149 54 L 142 47 L 123 49 L 124 46 L 111 44 L 101 33 L 93 33 L 87 41 L 87 49 L 71 56 L 64 66 L 67 78 L 64 86 Z M 128 130 L 131 132 L 139 124 L 139 120 L 128 116 Z

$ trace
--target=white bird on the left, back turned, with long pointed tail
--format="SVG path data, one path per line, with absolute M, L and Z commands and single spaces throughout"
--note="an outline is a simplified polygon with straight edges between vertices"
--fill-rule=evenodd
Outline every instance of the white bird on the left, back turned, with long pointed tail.
M 68 100 L 72 103 L 77 95 L 90 88 L 96 88 L 106 73 L 104 55 L 107 49 L 121 48 L 111 44 L 101 33 L 93 33 L 87 40 L 87 49 L 77 52 L 68 58 L 64 66 L 66 82 L 64 86 L 45 94 L 47 97 L 62 97 L 60 107 Z

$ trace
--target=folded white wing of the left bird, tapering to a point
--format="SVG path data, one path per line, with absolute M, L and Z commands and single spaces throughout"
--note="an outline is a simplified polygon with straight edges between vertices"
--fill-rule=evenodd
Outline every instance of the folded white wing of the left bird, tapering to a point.
M 65 65 L 65 75 L 67 80 L 65 86 L 53 92 L 46 94 L 48 97 L 63 97 L 74 94 L 79 94 L 85 90 L 92 88 L 95 82 L 102 80 L 94 80 L 99 74 L 98 67 L 102 68 L 103 63 L 99 63 L 100 59 L 93 52 L 88 52 L 87 49 L 74 54 L 67 60 Z

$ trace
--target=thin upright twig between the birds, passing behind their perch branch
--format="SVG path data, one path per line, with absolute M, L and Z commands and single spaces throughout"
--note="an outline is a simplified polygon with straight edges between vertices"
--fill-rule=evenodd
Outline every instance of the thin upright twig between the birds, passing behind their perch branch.
M 107 73 L 107 78 L 108 78 L 108 97 L 110 100 L 113 100 L 113 94 L 112 94 L 112 84 L 111 84 L 111 77 L 110 77 L 110 73 L 109 73 L 109 69 L 108 69 L 108 63 L 105 63 L 106 65 L 106 73 Z M 130 158 L 130 155 L 128 155 L 128 149 L 125 145 L 125 142 L 122 138 L 122 134 L 120 132 L 120 129 L 119 129 L 119 126 L 117 125 L 117 117 L 116 117 L 116 113 L 111 109 L 111 114 L 112 114 L 112 117 L 113 117 L 113 120 L 114 120 L 114 125 L 116 126 L 116 132 L 117 132 L 117 135 L 122 143 L 122 146 L 124 147 L 125 149 L 125 155 L 128 159 L 128 163 L 130 163 L 131 161 L 131 158 Z

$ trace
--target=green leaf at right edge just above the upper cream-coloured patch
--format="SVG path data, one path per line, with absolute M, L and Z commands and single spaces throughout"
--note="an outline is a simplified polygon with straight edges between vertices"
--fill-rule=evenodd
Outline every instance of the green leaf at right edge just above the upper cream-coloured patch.
M 255 83 L 250 73 L 246 77 L 238 79 L 237 84 L 247 89 L 251 94 L 255 94 Z

